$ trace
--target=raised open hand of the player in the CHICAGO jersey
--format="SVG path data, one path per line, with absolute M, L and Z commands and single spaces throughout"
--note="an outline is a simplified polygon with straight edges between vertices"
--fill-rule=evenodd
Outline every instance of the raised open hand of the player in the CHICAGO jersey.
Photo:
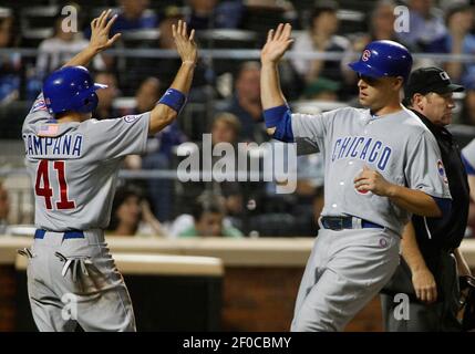
M 278 63 L 283 53 L 289 49 L 293 40 L 290 38 L 292 27 L 289 23 L 280 23 L 276 30 L 267 34 L 267 42 L 260 52 L 260 61 L 264 63 Z

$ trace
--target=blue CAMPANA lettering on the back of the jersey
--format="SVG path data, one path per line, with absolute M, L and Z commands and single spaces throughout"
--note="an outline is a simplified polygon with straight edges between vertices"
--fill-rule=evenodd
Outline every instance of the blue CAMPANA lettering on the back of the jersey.
M 81 134 L 63 134 L 58 137 L 40 137 L 35 134 L 23 134 L 27 155 L 58 155 L 80 157 L 83 136 Z

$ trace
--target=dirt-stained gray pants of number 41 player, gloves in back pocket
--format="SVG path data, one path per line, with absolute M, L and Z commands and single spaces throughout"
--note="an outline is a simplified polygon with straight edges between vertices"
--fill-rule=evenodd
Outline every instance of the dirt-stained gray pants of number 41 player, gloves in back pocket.
M 131 298 L 104 232 L 65 235 L 43 232 L 22 252 L 29 258 L 28 293 L 38 329 L 69 332 L 79 323 L 84 331 L 135 331 Z

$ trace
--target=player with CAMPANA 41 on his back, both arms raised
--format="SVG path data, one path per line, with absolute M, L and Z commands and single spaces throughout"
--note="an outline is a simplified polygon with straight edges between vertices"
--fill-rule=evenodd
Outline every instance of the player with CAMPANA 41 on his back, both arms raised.
M 89 46 L 44 82 L 22 129 L 35 195 L 34 243 L 28 291 L 40 331 L 135 331 L 132 302 L 104 241 L 117 171 L 128 154 L 145 152 L 148 134 L 172 123 L 189 91 L 197 60 L 194 31 L 173 25 L 183 64 L 165 95 L 140 115 L 91 119 L 96 90 L 86 65 L 120 37 L 116 17 L 91 22 Z

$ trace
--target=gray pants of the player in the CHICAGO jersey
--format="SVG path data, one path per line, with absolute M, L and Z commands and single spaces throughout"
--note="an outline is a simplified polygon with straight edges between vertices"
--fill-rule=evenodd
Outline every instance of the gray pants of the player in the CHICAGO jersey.
M 400 237 L 379 228 L 321 228 L 297 296 L 292 332 L 343 331 L 391 279 Z

